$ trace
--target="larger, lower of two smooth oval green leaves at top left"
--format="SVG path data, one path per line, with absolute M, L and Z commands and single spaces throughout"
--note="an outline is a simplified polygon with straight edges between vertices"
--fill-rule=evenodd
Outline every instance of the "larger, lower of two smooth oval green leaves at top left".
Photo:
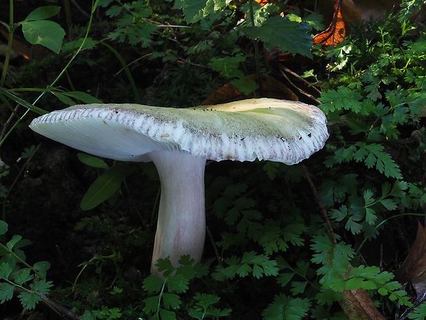
M 65 31 L 58 23 L 48 20 L 22 21 L 22 32 L 32 45 L 43 45 L 59 53 Z

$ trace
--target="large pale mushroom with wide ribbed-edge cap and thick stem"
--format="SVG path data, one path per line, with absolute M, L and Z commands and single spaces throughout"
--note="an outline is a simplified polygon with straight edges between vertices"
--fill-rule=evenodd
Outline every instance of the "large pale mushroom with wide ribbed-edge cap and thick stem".
M 324 147 L 326 116 L 295 101 L 258 98 L 188 109 L 76 105 L 34 119 L 31 129 L 69 147 L 123 161 L 153 161 L 161 198 L 151 273 L 170 258 L 201 259 L 206 160 L 296 164 Z

